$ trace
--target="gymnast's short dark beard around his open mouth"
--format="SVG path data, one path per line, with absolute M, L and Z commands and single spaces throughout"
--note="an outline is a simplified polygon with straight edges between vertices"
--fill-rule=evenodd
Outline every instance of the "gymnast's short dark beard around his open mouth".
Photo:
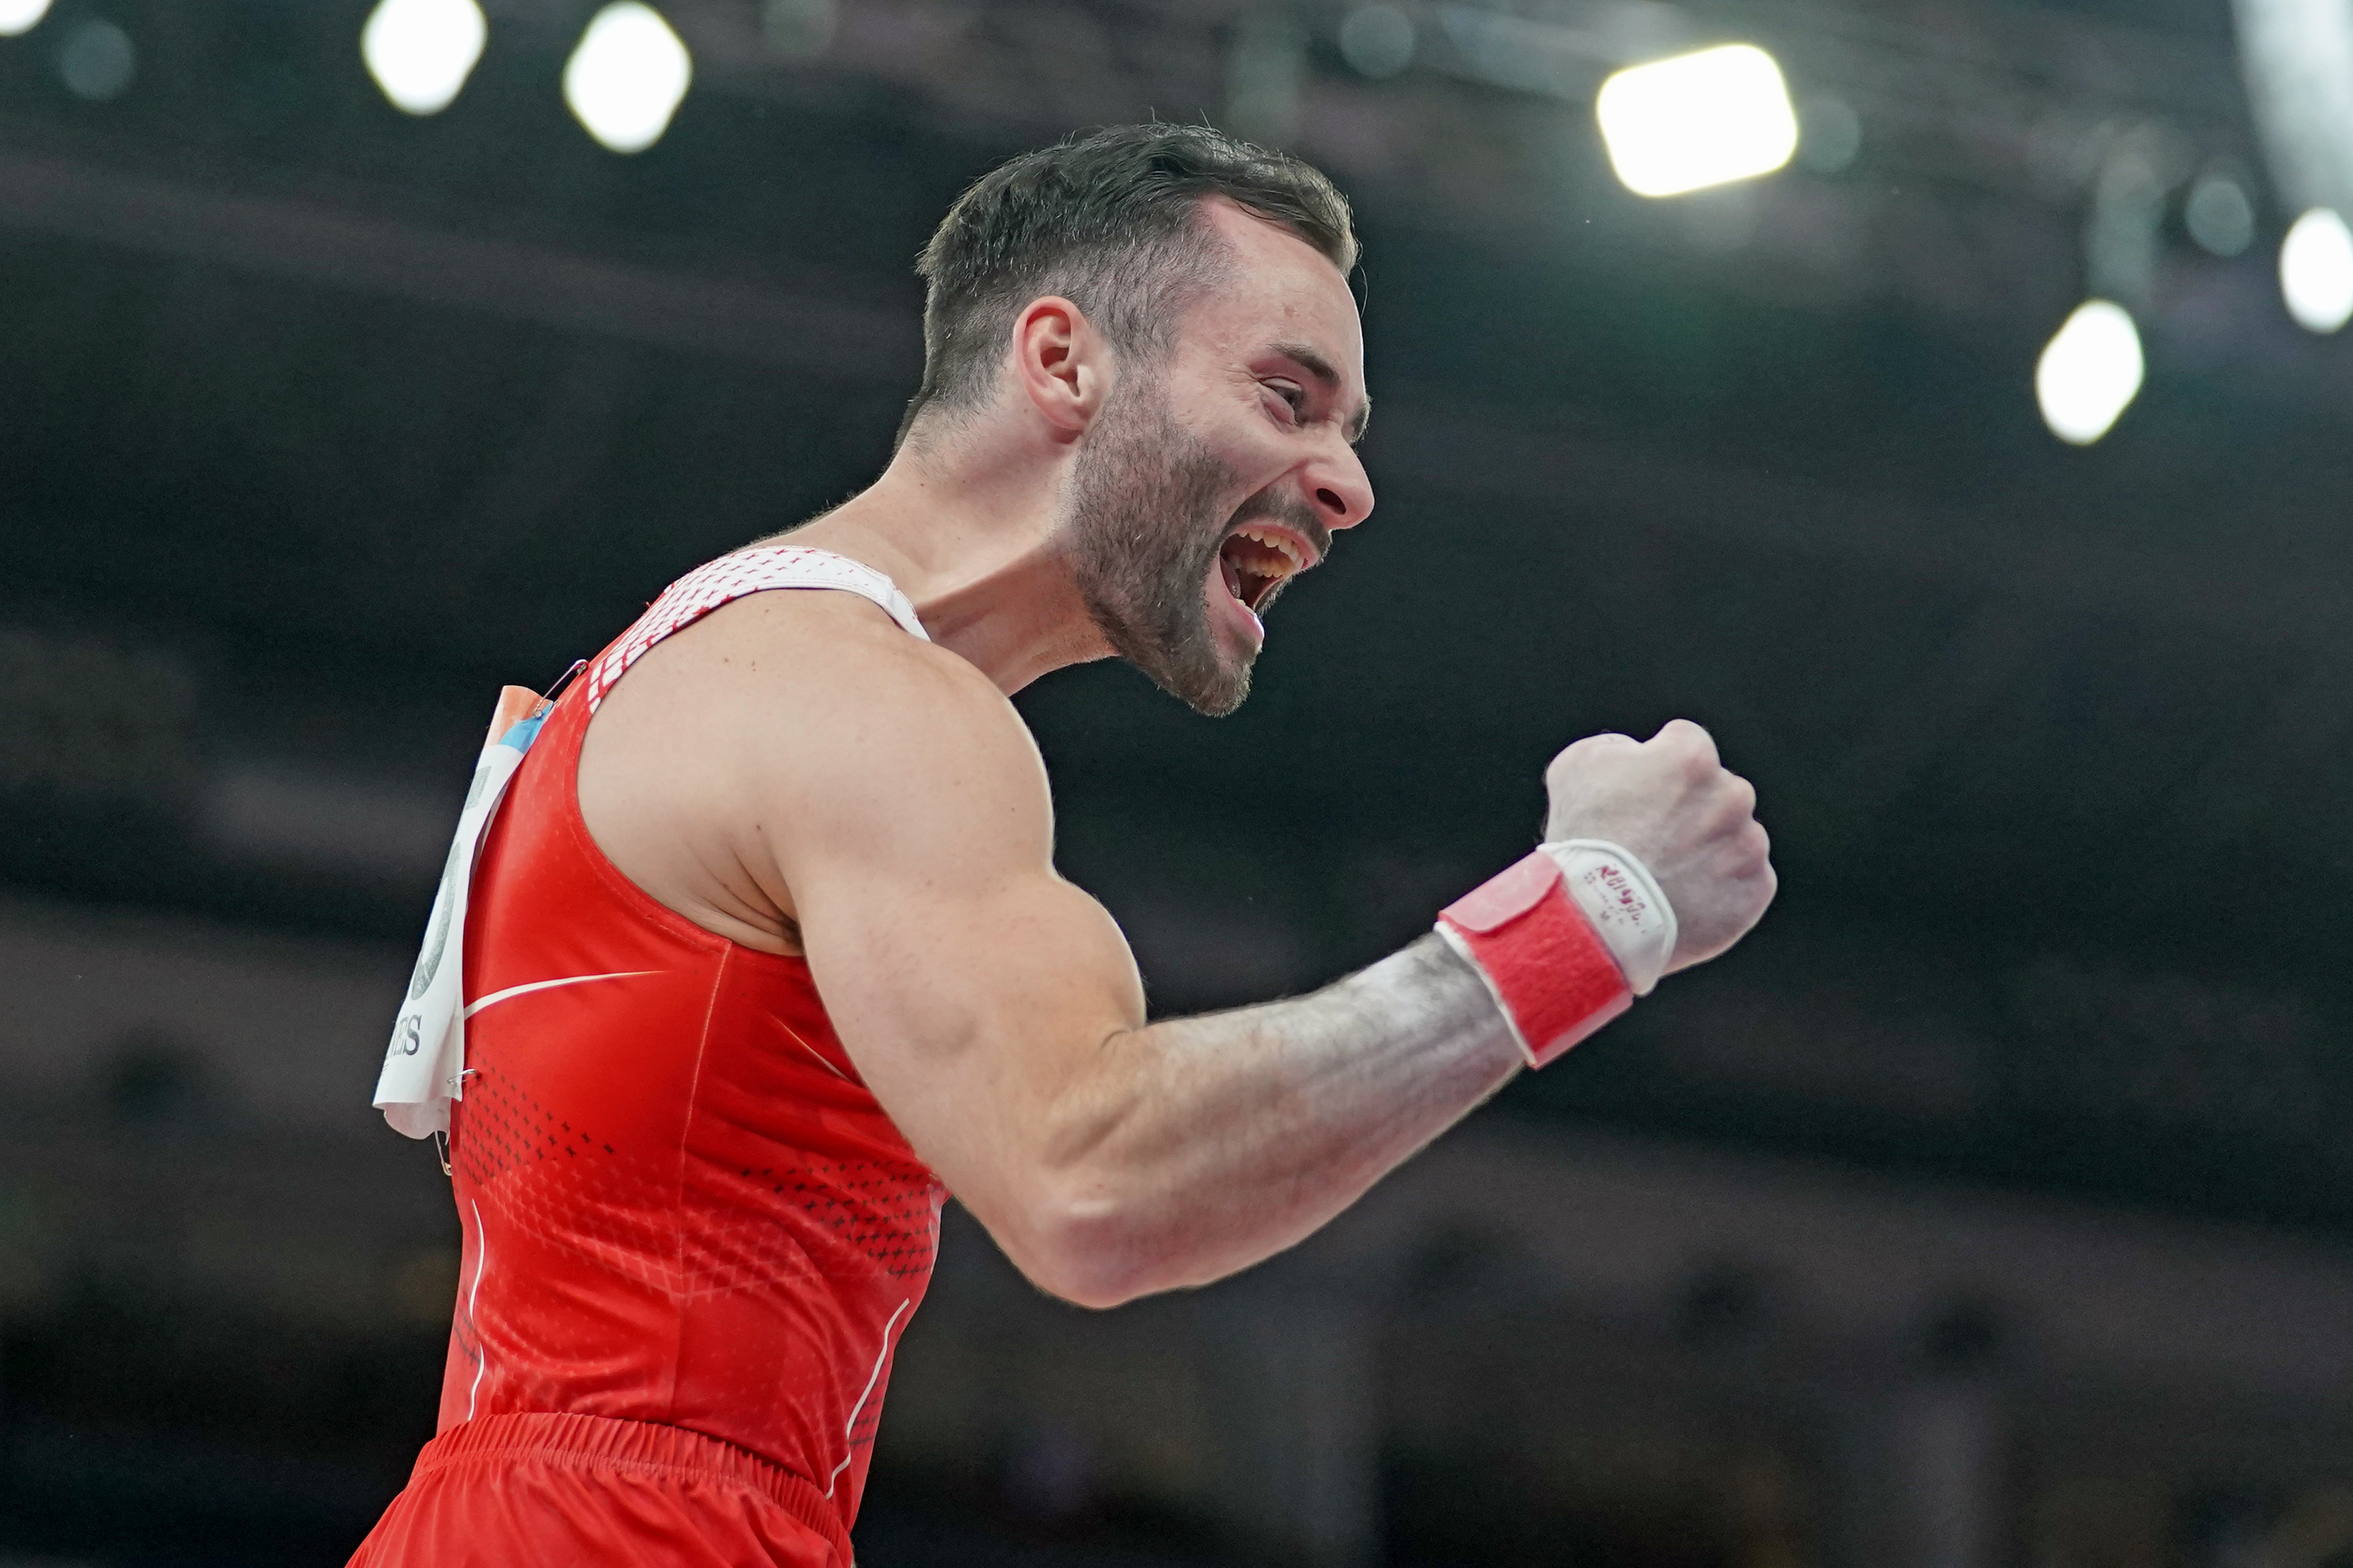
M 1221 719 L 1249 696 L 1257 649 L 1224 649 L 1202 588 L 1219 545 L 1247 515 L 1280 515 L 1273 498 L 1228 515 L 1235 475 L 1139 381 L 1115 390 L 1071 470 L 1064 536 L 1087 616 L 1111 649 L 1193 712 Z M 1311 534 L 1313 536 L 1313 534 Z

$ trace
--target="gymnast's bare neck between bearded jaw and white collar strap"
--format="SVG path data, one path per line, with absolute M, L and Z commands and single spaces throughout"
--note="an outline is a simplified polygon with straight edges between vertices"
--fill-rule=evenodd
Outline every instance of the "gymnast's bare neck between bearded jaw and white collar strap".
M 885 574 L 915 604 L 932 642 L 1012 696 L 1040 675 L 1106 658 L 1111 646 L 1054 538 L 1071 451 L 976 461 L 986 449 L 986 435 L 922 447 L 911 440 L 880 480 L 795 529 L 793 543 Z

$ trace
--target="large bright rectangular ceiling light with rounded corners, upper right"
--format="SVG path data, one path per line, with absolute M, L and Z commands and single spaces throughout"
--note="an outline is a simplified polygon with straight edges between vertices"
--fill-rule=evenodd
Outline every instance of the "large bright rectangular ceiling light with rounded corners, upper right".
M 1593 115 L 1609 167 L 1635 195 L 1772 174 L 1798 150 L 1781 68 L 1753 45 L 1628 66 L 1602 82 Z

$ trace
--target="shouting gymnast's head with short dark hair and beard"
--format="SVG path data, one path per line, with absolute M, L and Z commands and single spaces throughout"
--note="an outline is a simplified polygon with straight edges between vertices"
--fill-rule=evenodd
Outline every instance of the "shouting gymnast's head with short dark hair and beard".
M 899 442 L 1054 475 L 1054 545 L 1111 651 L 1200 712 L 1249 691 L 1264 616 L 1372 484 L 1348 200 L 1202 125 L 993 169 L 922 249 Z

